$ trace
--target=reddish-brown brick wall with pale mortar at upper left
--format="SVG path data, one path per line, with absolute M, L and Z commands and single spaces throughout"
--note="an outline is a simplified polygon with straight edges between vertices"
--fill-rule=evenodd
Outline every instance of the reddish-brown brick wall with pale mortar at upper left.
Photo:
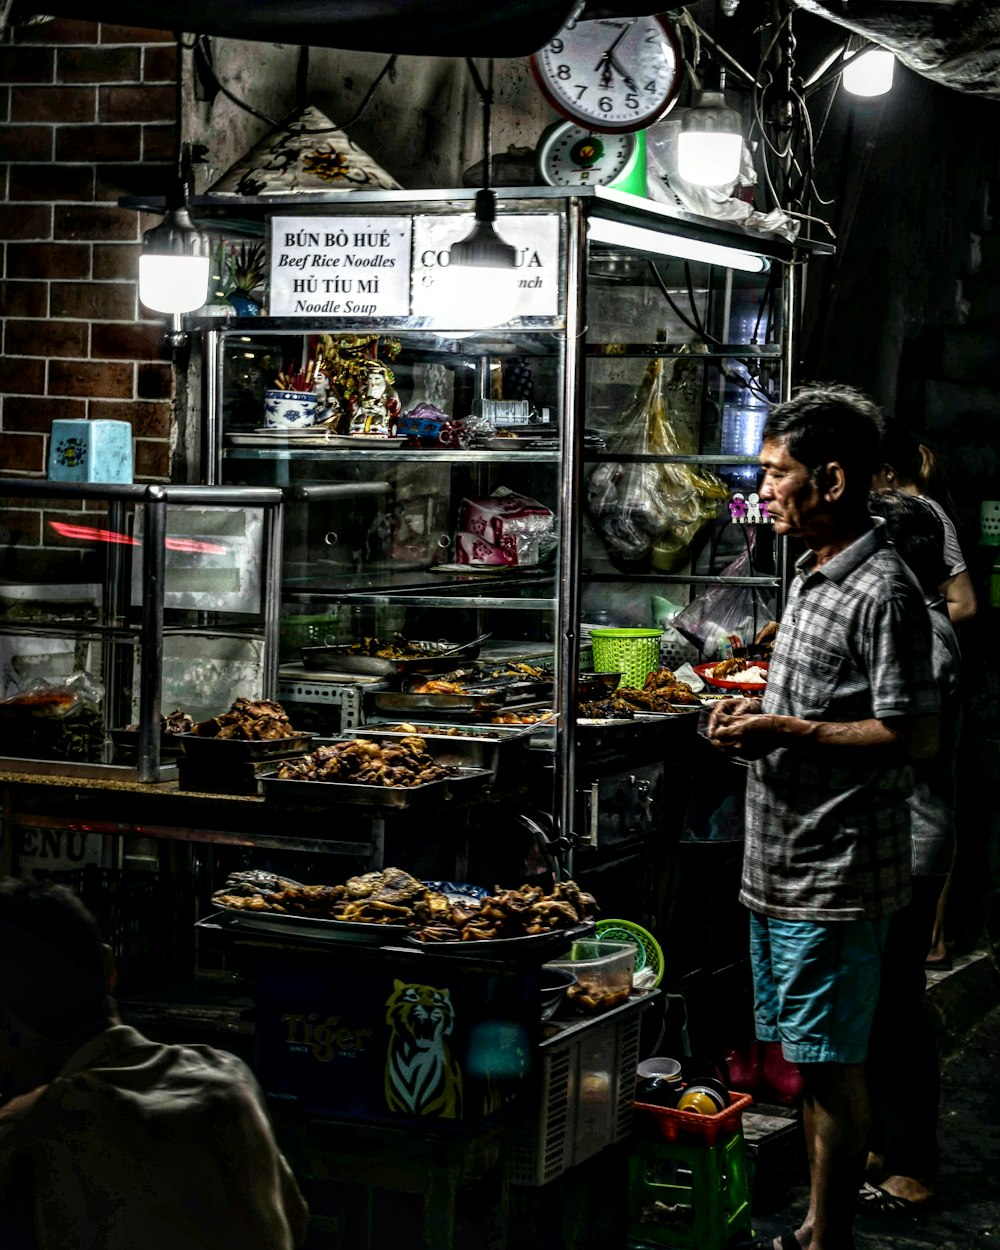
M 139 304 L 142 231 L 121 195 L 172 172 L 176 48 L 92 21 L 0 44 L 0 475 L 45 476 L 54 418 L 132 426 L 135 478 L 170 478 L 175 379 Z

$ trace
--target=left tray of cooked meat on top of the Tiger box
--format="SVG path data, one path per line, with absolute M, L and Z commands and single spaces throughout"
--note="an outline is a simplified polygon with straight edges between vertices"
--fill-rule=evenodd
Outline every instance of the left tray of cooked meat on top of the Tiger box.
M 485 895 L 485 890 L 480 891 Z M 419 881 L 399 868 L 349 878 L 342 885 L 302 885 L 274 872 L 231 872 L 212 904 L 225 928 L 278 936 L 386 946 L 412 925 L 449 909 L 441 882 Z

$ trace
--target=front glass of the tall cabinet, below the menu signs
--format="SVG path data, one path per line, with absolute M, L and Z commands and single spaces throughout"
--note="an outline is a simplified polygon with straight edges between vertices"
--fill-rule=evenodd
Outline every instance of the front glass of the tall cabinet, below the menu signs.
M 366 436 L 344 432 L 348 412 L 300 430 L 265 425 L 278 378 L 352 342 L 348 332 L 214 332 L 220 475 L 278 485 L 285 498 L 278 689 L 296 704 L 296 724 L 339 732 L 379 719 L 378 674 L 341 685 L 342 655 L 314 648 L 480 640 L 484 664 L 551 670 L 561 336 L 370 335 L 399 416 L 388 435 Z M 551 694 L 540 690 L 544 706 L 530 710 L 550 712 Z

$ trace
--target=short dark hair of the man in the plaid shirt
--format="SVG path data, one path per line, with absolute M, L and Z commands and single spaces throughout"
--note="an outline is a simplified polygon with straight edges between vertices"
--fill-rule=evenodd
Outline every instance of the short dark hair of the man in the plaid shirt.
M 864 499 L 879 468 L 881 429 L 881 414 L 868 396 L 829 382 L 806 386 L 776 404 L 768 414 L 764 441 L 784 442 L 820 486 L 822 466 L 836 460 L 844 469 L 846 495 Z

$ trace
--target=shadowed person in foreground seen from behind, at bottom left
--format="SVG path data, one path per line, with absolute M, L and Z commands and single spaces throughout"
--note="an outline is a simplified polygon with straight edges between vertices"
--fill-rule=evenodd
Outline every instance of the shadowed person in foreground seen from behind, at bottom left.
M 119 1022 L 62 886 L 0 882 L 4 1250 L 294 1250 L 309 1211 L 246 1065 Z

